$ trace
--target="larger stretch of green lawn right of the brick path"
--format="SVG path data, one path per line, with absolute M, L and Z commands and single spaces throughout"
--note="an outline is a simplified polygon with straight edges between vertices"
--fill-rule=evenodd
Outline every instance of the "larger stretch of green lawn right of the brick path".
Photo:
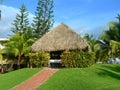
M 61 69 L 38 90 L 120 90 L 120 64 Z

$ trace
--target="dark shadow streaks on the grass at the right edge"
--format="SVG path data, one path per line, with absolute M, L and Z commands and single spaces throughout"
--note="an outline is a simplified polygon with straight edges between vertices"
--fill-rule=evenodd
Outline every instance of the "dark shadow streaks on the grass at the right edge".
M 101 76 L 110 76 L 112 78 L 120 80 L 120 66 L 110 66 L 110 65 L 103 65 L 102 68 L 99 68 L 100 72 L 98 75 Z

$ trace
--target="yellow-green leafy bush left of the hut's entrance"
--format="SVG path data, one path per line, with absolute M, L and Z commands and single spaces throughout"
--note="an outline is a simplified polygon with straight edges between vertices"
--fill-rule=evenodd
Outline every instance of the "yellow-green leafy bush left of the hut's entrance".
M 48 61 L 50 60 L 50 55 L 46 52 L 30 53 L 29 57 L 32 67 L 48 66 Z

